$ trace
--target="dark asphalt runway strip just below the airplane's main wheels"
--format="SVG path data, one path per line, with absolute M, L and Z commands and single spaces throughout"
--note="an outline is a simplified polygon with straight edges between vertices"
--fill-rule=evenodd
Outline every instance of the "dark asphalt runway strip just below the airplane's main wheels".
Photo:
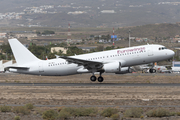
M 180 83 L 0 83 L 0 86 L 180 87 Z

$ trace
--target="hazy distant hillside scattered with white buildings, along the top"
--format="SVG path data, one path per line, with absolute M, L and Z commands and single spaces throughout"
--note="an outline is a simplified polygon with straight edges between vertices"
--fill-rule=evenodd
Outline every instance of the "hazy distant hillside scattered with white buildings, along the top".
M 176 23 L 179 8 L 178 0 L 0 0 L 0 26 L 66 28 L 71 23 L 76 28 L 108 28 Z

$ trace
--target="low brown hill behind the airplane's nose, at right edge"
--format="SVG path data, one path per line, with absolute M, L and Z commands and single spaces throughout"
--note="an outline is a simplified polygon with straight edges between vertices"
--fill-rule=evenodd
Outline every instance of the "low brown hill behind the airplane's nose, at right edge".
M 132 37 L 170 38 L 180 34 L 180 26 L 178 24 L 148 24 L 136 27 L 119 28 L 115 34 L 128 37 L 128 31 L 131 30 Z

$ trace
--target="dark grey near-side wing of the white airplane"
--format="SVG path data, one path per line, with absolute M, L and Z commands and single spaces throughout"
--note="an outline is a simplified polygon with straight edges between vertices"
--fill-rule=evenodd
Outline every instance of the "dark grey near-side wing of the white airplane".
M 78 64 L 78 66 L 84 66 L 84 68 L 88 70 L 92 70 L 92 69 L 97 70 L 103 67 L 103 63 L 98 61 L 89 61 L 89 60 L 78 59 L 69 56 L 60 56 L 60 58 L 67 60 L 69 63 L 75 63 Z

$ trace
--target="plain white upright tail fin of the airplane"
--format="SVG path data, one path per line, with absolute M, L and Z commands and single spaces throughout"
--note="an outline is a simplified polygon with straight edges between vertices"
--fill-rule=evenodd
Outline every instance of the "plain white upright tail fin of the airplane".
M 23 65 L 39 60 L 17 39 L 9 39 L 8 41 L 18 65 Z

